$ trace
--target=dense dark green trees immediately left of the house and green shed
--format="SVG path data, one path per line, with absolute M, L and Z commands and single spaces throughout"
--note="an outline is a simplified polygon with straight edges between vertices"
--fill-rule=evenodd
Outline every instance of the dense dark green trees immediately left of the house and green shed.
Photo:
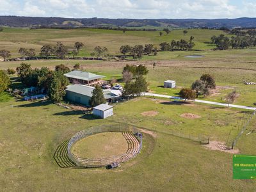
M 16 70 L 20 81 L 25 86 L 44 89 L 53 102 L 60 102 L 65 96 L 65 88 L 69 81 L 63 74 L 70 71 L 65 65 L 57 65 L 56 70 L 52 71 L 47 67 L 32 69 L 31 65 L 21 63 Z

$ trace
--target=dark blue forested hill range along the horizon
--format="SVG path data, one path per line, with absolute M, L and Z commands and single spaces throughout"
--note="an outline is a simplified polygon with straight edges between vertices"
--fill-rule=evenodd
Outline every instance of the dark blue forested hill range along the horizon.
M 9 27 L 122 27 L 122 28 L 255 28 L 256 18 L 238 19 L 72 19 L 61 17 L 0 16 L 0 26 Z

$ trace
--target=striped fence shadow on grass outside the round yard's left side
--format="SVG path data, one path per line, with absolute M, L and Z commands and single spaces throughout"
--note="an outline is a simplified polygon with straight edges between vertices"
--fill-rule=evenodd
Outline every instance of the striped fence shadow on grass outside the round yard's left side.
M 54 152 L 54 160 L 61 168 L 78 168 L 70 159 L 68 159 L 68 141 L 61 143 Z

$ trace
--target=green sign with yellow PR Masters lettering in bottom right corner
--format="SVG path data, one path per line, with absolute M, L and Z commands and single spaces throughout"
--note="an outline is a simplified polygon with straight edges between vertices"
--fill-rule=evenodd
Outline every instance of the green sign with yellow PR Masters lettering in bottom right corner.
M 256 179 L 256 156 L 233 156 L 233 179 Z

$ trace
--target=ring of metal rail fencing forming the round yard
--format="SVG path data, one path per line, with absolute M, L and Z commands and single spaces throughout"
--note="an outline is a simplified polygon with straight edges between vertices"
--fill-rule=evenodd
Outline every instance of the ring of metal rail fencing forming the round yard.
M 72 153 L 71 149 L 74 143 L 83 138 L 100 132 L 123 132 L 124 138 L 127 140 L 128 143 L 127 152 L 118 156 L 104 157 L 101 159 L 87 159 L 84 157 L 77 157 Z M 68 142 L 67 147 L 68 158 L 77 166 L 84 168 L 107 166 L 112 163 L 124 163 L 125 161 L 132 159 L 138 153 L 140 153 L 140 150 L 142 148 L 142 135 L 136 133 L 138 133 L 138 129 L 129 125 L 101 125 L 98 127 L 90 127 L 83 131 L 77 132 L 77 134 L 72 136 L 72 138 Z M 134 136 L 134 134 L 136 136 Z

